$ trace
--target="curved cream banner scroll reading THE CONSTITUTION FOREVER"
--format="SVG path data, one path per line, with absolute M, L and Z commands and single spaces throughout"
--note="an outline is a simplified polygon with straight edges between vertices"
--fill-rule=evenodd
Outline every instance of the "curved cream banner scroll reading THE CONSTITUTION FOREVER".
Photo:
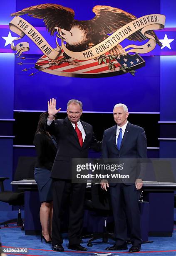
M 156 46 L 155 38 L 147 34 L 147 31 L 164 28 L 165 19 L 166 17 L 161 14 L 145 15 L 119 28 L 107 39 L 97 44 L 96 46 L 93 46 L 89 50 L 81 51 L 81 52 L 69 51 L 64 46 L 63 40 L 62 40 L 62 49 L 68 56 L 74 59 L 89 60 L 92 58 L 96 58 L 102 54 L 105 54 L 107 51 L 111 50 L 114 46 L 121 43 L 124 39 L 129 37 L 131 34 L 141 29 L 141 33 L 143 33 L 144 36 L 146 36 L 146 38 L 149 38 L 149 41 L 142 46 L 137 46 L 137 45 L 126 46 L 124 49 L 121 50 L 122 51 L 121 54 L 127 54 L 129 52 L 147 53 L 149 51 L 152 51 Z M 148 47 L 149 44 L 151 45 L 150 48 Z M 131 47 L 132 49 L 125 51 L 126 49 Z

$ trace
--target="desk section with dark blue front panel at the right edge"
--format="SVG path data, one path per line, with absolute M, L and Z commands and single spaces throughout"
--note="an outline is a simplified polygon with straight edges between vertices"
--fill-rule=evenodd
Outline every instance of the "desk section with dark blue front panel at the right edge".
M 149 236 L 172 236 L 176 183 L 145 182 L 143 200 L 149 202 Z

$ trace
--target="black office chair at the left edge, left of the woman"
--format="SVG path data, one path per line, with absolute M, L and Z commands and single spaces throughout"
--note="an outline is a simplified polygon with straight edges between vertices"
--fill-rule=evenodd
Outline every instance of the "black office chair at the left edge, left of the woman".
M 20 156 L 18 159 L 17 169 L 15 171 L 14 180 L 22 179 L 34 179 L 36 157 Z M 7 177 L 0 178 L 0 201 L 7 202 L 9 205 L 19 206 L 18 216 L 15 219 L 6 220 L 0 225 L 8 226 L 9 223 L 17 222 L 18 226 L 24 230 L 24 224 L 21 218 L 21 205 L 24 205 L 24 192 L 17 189 L 16 192 L 8 191 L 4 189 L 4 180 L 9 179 Z

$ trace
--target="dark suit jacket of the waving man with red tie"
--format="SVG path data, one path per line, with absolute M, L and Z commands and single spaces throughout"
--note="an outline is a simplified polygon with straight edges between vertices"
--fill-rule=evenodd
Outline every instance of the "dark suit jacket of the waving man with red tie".
M 52 178 L 72 179 L 72 158 L 87 158 L 89 148 L 101 151 L 101 143 L 95 138 L 92 125 L 82 121 L 81 123 L 86 133 L 82 147 L 68 117 L 55 120 L 47 125 L 50 134 L 57 138 L 57 154 L 52 166 Z

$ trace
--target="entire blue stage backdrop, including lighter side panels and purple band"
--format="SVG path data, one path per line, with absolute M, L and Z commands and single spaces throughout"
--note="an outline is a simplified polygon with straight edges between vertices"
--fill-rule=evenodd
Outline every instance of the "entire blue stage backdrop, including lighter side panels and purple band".
M 82 100 L 84 111 L 91 112 L 112 112 L 113 106 L 117 102 L 123 102 L 129 107 L 130 112 L 160 112 L 160 120 L 164 122 L 176 122 L 176 87 L 175 87 L 175 67 L 176 67 L 176 0 L 155 0 L 143 1 L 117 1 L 117 0 L 10 0 L 1 1 L 0 10 L 0 60 L 1 60 L 1 85 L 0 85 L 0 121 L 4 119 L 11 122 L 13 110 L 47 110 L 47 100 L 50 97 L 57 98 L 57 107 L 66 110 L 66 103 L 71 98 Z M 44 3 L 56 3 L 72 8 L 75 11 L 75 19 L 89 20 L 94 17 L 92 8 L 95 5 L 109 5 L 121 8 L 132 13 L 137 18 L 161 13 L 166 15 L 166 26 L 163 31 L 156 31 L 159 39 L 168 36 L 172 39 L 171 48 L 156 46 L 151 52 L 154 56 L 142 56 L 146 61 L 146 66 L 138 69 L 135 77 L 124 74 L 116 77 L 106 77 L 97 79 L 59 77 L 44 72 L 39 72 L 35 76 L 29 76 L 37 69 L 30 69 L 22 72 L 24 68 L 32 68 L 36 60 L 27 60 L 25 65 L 17 63 L 23 61 L 14 56 L 14 51 L 10 49 L 10 44 L 5 46 L 5 39 L 10 29 L 8 23 L 12 20 L 10 13 L 22 10 L 33 5 Z M 42 35 L 47 35 L 51 46 L 55 47 L 55 36 L 51 36 L 45 31 L 45 23 L 37 18 L 27 15 L 22 16 L 32 26 L 37 27 Z M 17 36 L 12 32 L 12 36 Z M 25 37 L 24 37 L 25 38 Z M 52 39 L 52 41 L 50 41 Z M 27 40 L 28 41 L 28 40 Z M 17 42 L 17 41 L 16 41 Z M 15 42 L 15 45 L 16 45 Z M 32 41 L 31 41 L 32 42 Z M 124 42 L 122 43 L 122 45 Z M 32 45 L 32 44 L 31 44 Z M 40 51 L 37 46 L 31 46 L 26 54 L 28 58 L 38 59 Z M 168 55 L 162 56 L 161 55 Z M 161 70 L 161 74 L 160 74 Z M 15 73 L 14 73 L 15 71 Z M 160 81 L 161 80 L 161 81 Z M 174 107 L 175 106 L 175 107 Z M 167 124 L 167 123 L 166 123 Z M 11 127 L 10 123 L 9 127 Z M 152 124 L 150 124 L 152 126 Z M 169 125 L 168 125 L 169 127 Z M 24 124 L 25 130 L 25 124 Z M 169 129 L 167 131 L 170 131 Z M 7 132 L 7 131 L 6 131 Z M 4 134 L 0 134 L 2 136 Z M 13 142 L 10 134 L 8 138 L 0 138 L 0 161 L 2 162 L 2 176 L 7 176 L 10 180 L 5 182 L 6 189 L 10 190 L 12 180 L 12 166 L 17 164 L 17 158 L 21 155 L 35 154 L 34 148 L 12 148 Z M 165 134 L 164 140 L 160 142 L 161 157 L 176 157 L 176 140 L 169 138 Z M 173 136 L 174 137 L 174 136 Z M 167 139 L 168 138 L 168 139 Z M 170 140 L 171 139 L 171 140 Z M 155 146 L 155 145 L 152 145 Z M 159 156 L 158 148 L 150 148 L 150 157 Z M 14 161 L 12 161 L 14 159 Z M 7 204 L 0 204 L 0 210 L 11 209 Z

